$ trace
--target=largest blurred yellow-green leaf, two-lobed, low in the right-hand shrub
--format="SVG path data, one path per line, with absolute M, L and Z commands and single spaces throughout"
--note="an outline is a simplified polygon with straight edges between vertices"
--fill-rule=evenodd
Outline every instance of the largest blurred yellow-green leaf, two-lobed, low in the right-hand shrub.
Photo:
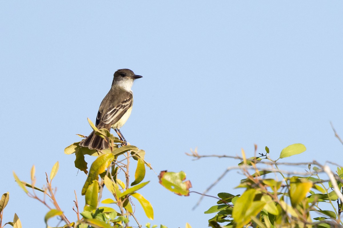
M 264 207 L 265 202 L 253 201 L 255 195 L 255 189 L 248 189 L 235 202 L 232 217 L 235 219 L 237 228 L 248 224 L 251 216 L 256 216 Z

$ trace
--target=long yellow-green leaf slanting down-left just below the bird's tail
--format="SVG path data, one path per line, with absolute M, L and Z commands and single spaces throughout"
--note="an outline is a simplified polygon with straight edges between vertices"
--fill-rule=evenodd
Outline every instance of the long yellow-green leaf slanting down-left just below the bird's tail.
M 93 183 L 93 180 L 98 180 L 98 175 L 105 172 L 106 168 L 111 164 L 114 160 L 113 154 L 103 154 L 100 155 L 91 165 L 88 177 L 86 182 L 82 188 L 81 194 L 84 195 L 88 186 Z

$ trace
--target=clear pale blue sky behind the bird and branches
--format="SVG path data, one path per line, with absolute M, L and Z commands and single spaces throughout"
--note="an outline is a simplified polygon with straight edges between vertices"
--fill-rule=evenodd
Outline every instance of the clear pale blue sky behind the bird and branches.
M 146 151 L 157 173 L 183 170 L 205 190 L 234 160 L 185 155 L 253 156 L 268 146 L 276 159 L 289 144 L 307 151 L 287 161 L 342 164 L 343 3 L 341 1 L 1 1 L 0 193 L 10 192 L 4 219 L 44 227 L 43 205 L 29 199 L 12 171 L 37 186 L 56 161 L 57 199 L 71 219 L 85 175 L 63 149 L 91 131 L 113 73 L 132 69 L 134 107 L 121 131 Z M 92 162 L 93 157 L 87 161 Z M 285 160 L 286 161 L 286 160 Z M 234 192 L 230 172 L 209 194 Z M 215 204 L 179 197 L 158 184 L 142 190 L 153 224 L 207 227 Z M 142 224 L 149 222 L 140 206 Z M 52 224 L 51 224 L 52 225 Z M 131 225 L 134 225 L 132 222 Z

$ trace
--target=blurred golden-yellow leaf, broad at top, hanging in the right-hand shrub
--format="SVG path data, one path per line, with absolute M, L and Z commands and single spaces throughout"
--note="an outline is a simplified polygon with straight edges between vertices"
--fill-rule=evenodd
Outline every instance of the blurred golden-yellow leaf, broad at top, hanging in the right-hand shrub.
M 289 184 L 289 196 L 291 197 L 292 206 L 296 206 L 312 188 L 313 183 L 307 179 L 292 177 Z

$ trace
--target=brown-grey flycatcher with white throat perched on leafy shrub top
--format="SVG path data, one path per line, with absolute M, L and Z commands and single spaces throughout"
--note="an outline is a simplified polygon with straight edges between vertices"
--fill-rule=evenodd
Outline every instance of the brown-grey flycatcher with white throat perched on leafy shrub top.
M 119 129 L 125 124 L 131 114 L 133 103 L 131 87 L 133 81 L 141 77 L 140 75 L 135 75 L 129 69 L 119 69 L 114 73 L 111 89 L 101 102 L 98 115 L 96 116 L 95 126 L 98 129 L 106 128 L 110 130 L 113 128 L 119 138 L 126 142 Z M 82 140 L 79 145 L 98 151 L 109 148 L 108 142 L 95 135 L 94 131 Z

